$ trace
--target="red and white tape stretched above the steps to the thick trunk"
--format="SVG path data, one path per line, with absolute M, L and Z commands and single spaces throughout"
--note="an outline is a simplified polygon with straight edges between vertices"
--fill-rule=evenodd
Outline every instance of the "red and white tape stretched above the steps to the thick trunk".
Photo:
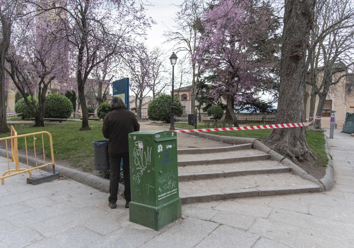
M 275 129 L 275 128 L 299 128 L 303 126 L 308 126 L 312 124 L 314 119 L 321 119 L 321 117 L 316 116 L 315 118 L 310 117 L 313 120 L 310 122 L 299 122 L 299 123 L 285 123 L 285 124 L 271 124 L 271 125 L 258 125 L 258 126 L 240 126 L 233 128 L 206 128 L 206 129 L 189 129 L 189 130 L 174 130 L 177 133 L 196 133 L 196 132 L 217 132 L 217 131 L 240 131 L 240 130 L 256 130 L 256 129 Z

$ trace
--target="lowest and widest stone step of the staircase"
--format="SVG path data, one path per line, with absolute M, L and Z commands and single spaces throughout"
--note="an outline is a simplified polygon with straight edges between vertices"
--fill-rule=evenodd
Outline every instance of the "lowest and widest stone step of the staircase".
M 222 177 L 179 183 L 182 204 L 319 191 L 318 185 L 291 173 Z

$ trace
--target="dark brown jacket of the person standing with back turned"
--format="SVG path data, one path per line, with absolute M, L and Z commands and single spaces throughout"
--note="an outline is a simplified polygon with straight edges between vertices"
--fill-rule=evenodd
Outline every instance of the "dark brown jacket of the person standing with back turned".
M 118 108 L 108 112 L 102 126 L 102 134 L 108 139 L 108 153 L 129 153 L 128 134 L 139 129 L 138 120 L 131 111 Z

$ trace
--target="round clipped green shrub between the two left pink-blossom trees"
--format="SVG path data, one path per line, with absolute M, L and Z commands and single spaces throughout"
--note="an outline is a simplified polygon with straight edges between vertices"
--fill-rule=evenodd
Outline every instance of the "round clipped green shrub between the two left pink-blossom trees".
M 68 97 L 61 94 L 46 96 L 45 118 L 67 119 L 73 112 L 73 104 Z

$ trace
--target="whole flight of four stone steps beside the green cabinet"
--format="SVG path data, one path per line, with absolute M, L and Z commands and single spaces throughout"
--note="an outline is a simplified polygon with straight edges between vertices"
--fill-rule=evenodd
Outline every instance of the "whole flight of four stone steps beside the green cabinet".
M 179 149 L 178 180 L 182 204 L 320 191 L 251 144 Z

